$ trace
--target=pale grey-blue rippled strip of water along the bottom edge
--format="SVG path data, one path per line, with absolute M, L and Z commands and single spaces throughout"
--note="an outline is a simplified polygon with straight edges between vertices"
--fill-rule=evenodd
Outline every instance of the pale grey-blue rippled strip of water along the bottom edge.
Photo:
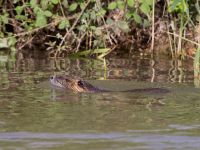
M 162 132 L 162 131 L 161 131 Z M 3 140 L 3 141 L 2 141 Z M 194 149 L 200 138 L 182 135 L 159 135 L 149 133 L 30 133 L 10 132 L 0 134 L 0 143 L 18 143 L 27 149 Z M 144 144 L 145 143 L 145 144 Z M 9 145 L 8 147 L 11 147 Z

